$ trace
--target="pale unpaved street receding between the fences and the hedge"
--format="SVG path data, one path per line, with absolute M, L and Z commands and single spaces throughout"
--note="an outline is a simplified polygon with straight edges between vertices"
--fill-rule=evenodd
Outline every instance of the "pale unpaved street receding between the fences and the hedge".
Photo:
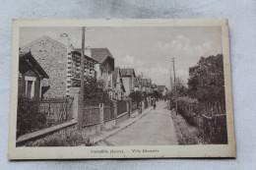
M 164 101 L 156 110 L 98 145 L 172 145 L 178 144 L 170 111 Z

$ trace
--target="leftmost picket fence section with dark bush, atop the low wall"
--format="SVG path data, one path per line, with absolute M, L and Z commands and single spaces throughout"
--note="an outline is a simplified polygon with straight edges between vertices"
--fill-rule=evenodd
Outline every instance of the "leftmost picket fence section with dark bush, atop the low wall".
M 41 100 L 18 97 L 17 138 L 72 119 L 73 98 L 54 97 Z

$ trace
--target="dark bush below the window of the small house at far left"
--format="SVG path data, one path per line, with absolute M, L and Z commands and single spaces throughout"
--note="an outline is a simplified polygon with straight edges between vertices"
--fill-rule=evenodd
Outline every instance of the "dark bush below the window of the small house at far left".
M 32 131 L 42 129 L 46 115 L 39 113 L 38 103 L 28 96 L 18 97 L 17 138 Z

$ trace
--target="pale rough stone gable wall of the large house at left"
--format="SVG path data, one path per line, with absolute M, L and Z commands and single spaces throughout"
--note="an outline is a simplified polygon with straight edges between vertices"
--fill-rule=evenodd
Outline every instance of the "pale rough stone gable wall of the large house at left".
M 50 85 L 44 93 L 48 96 L 64 96 L 67 93 L 67 60 L 68 49 L 61 43 L 43 36 L 23 47 L 22 52 L 32 52 L 32 56 L 49 75 L 48 80 L 42 81 L 42 86 Z

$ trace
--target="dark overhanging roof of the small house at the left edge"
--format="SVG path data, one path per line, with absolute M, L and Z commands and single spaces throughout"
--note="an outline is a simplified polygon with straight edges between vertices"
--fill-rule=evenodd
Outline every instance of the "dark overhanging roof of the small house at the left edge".
M 42 69 L 39 63 L 33 58 L 31 51 L 27 53 L 20 52 L 19 71 L 27 71 L 30 68 L 34 69 L 36 74 L 38 74 L 38 76 L 49 79 L 49 76 L 46 74 L 46 72 Z

